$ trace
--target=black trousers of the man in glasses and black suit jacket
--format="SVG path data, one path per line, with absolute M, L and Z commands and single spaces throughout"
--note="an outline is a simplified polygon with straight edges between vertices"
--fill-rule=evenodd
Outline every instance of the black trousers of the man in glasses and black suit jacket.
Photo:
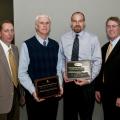
M 106 87 L 102 92 L 102 103 L 104 120 L 120 120 L 120 108 L 116 107 L 117 97 L 113 93 L 113 89 L 109 90 Z

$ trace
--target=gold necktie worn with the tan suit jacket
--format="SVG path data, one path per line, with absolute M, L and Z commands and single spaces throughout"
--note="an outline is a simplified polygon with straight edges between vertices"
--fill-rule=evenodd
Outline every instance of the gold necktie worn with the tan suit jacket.
M 17 88 L 17 85 L 18 85 L 17 73 L 18 73 L 18 71 L 17 71 L 17 64 L 16 64 L 15 56 L 12 52 L 12 49 L 9 49 L 9 51 L 8 51 L 8 59 L 9 59 L 10 68 L 11 68 L 12 82 L 15 85 L 15 87 Z

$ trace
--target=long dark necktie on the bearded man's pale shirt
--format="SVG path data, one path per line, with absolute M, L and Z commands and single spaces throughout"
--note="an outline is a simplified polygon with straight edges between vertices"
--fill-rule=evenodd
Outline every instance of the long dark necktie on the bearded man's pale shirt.
M 71 56 L 71 61 L 78 61 L 78 56 L 79 56 L 79 38 L 78 34 L 76 34 L 74 43 L 73 43 L 73 49 L 72 49 L 72 56 Z

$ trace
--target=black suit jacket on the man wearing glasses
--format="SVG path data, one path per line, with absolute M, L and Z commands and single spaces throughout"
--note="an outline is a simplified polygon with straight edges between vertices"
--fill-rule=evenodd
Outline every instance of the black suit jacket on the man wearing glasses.
M 96 78 L 96 90 L 102 90 L 103 74 L 104 86 L 116 97 L 120 97 L 120 40 L 105 61 L 109 42 L 102 47 L 102 68 Z

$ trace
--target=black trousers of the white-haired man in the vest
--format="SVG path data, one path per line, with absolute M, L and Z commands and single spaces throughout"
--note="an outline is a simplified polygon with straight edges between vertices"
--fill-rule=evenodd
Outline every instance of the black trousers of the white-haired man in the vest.
M 26 108 L 28 120 L 56 120 L 58 110 L 57 98 L 49 98 L 42 102 L 36 102 L 26 92 Z

